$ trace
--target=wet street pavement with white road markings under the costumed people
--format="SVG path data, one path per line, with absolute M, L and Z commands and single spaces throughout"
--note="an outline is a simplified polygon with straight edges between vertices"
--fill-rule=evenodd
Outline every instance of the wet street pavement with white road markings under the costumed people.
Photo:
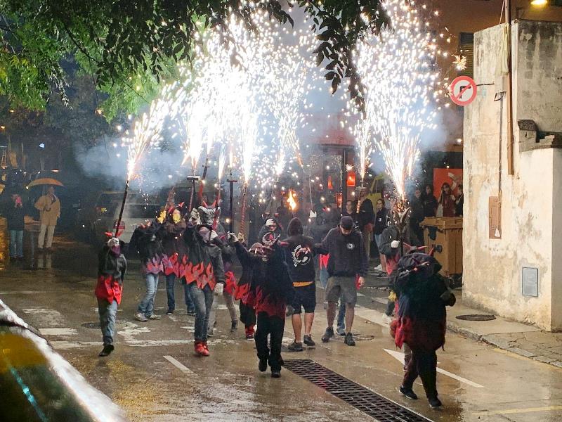
M 1 269 L 0 298 L 39 328 L 55 350 L 119 404 L 131 421 L 373 420 L 290 371 L 283 370 L 280 379 L 259 373 L 254 343 L 243 338 L 243 328 L 230 333 L 223 305 L 216 335 L 209 341 L 211 357 L 203 359 L 192 352 L 193 318 L 185 309 L 179 307 L 160 321 L 134 320 L 144 290 L 138 262 L 131 262 L 127 274 L 117 314 L 116 350 L 108 358 L 98 358 L 96 250 L 63 237 L 56 237 L 55 245 L 54 252 L 36 255 L 33 262 Z M 28 256 L 29 252 L 27 247 Z M 361 292 L 353 329 L 357 346 L 344 345 L 342 338 L 320 342 L 325 312 L 319 300 L 313 326 L 317 346 L 287 352 L 284 359 L 313 359 L 431 421 L 562 420 L 562 369 L 455 333 L 447 334 L 445 350 L 438 351 L 438 390 L 444 408 L 429 409 L 421 383 L 414 385 L 419 400 L 402 397 L 397 391 L 403 376 L 401 354 L 381 314 L 385 293 L 377 286 L 383 283 L 370 277 Z M 319 288 L 318 298 L 322 293 Z M 176 286 L 177 298 L 183 298 L 181 286 Z M 156 299 L 160 314 L 165 302 L 161 280 Z M 285 345 L 292 341 L 291 331 L 287 320 Z

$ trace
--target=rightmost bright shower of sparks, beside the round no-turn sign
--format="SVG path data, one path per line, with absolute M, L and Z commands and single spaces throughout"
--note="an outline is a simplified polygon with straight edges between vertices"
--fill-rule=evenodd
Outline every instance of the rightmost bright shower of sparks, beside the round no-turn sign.
M 367 92 L 365 117 L 353 132 L 358 142 L 360 174 L 369 165 L 372 149 L 381 154 L 398 196 L 412 177 L 419 158 L 420 134 L 434 129 L 438 72 L 436 39 L 427 30 L 414 4 L 387 0 L 384 7 L 392 27 L 365 39 L 356 49 L 358 70 Z M 369 141 L 371 140 L 371 141 Z

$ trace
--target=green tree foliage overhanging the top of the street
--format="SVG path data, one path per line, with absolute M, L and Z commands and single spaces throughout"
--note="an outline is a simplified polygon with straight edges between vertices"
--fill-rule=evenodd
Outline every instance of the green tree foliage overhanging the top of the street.
M 381 1 L 296 0 L 313 20 L 316 60 L 327 63 L 333 91 L 349 78 L 358 103 L 353 46 L 387 22 Z M 109 94 L 104 114 L 111 119 L 149 101 L 160 80 L 174 76 L 178 61 L 192 60 L 203 30 L 226 27 L 232 13 L 254 30 L 252 8 L 292 24 L 283 0 L 0 0 L 0 95 L 12 106 L 34 109 L 45 106 L 51 91 L 65 100 L 63 63 L 73 56 Z

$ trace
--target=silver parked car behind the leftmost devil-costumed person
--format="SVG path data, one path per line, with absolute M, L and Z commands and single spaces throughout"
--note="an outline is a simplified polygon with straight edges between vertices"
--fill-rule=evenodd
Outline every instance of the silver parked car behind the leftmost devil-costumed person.
M 158 215 L 159 210 L 159 203 L 129 203 L 127 201 L 121 224 L 119 224 L 119 238 L 125 243 L 129 243 L 133 231 L 141 224 L 151 222 Z M 105 240 L 106 233 L 115 233 L 120 211 L 121 201 L 114 201 L 100 210 L 100 217 L 93 222 L 93 230 L 98 241 Z

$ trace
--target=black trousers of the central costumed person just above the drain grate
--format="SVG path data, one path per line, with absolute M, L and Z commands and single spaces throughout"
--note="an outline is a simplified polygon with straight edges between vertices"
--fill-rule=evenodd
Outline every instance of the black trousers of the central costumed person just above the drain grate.
M 268 360 L 272 371 L 281 371 L 281 342 L 285 330 L 285 319 L 269 316 L 266 312 L 258 314 L 258 329 L 254 340 L 260 360 Z M 270 347 L 268 347 L 270 335 Z

